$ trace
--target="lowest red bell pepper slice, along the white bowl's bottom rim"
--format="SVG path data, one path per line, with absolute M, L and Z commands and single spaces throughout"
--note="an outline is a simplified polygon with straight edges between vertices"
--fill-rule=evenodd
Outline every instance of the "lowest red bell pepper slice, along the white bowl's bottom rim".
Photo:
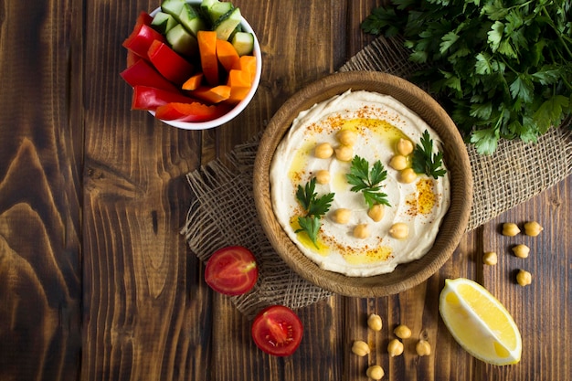
M 228 111 L 228 107 L 222 104 L 207 106 L 201 102 L 193 103 L 167 103 L 157 107 L 155 118 L 164 121 L 181 122 L 207 122 L 217 119 Z

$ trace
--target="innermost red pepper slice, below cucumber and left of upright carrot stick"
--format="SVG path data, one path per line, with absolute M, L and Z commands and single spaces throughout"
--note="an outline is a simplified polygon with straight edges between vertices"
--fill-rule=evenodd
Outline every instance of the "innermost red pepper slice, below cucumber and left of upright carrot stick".
M 151 44 L 147 55 L 155 69 L 177 85 L 182 85 L 193 74 L 193 65 L 161 40 Z

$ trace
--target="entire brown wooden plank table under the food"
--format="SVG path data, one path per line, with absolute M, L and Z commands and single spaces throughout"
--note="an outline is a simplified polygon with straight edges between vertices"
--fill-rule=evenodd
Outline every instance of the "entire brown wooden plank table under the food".
M 208 289 L 179 235 L 185 174 L 264 129 L 283 101 L 334 72 L 371 41 L 359 23 L 381 1 L 235 0 L 260 37 L 254 101 L 206 132 L 130 111 L 122 40 L 158 1 L 2 0 L 0 24 L 0 379 L 565 380 L 572 375 L 572 177 L 467 234 L 438 274 L 378 299 L 334 296 L 298 311 L 299 350 L 264 355 L 249 321 Z M 537 238 L 504 238 L 505 221 L 537 220 Z M 528 259 L 510 254 L 516 241 Z M 497 266 L 482 265 L 495 250 Z M 533 274 L 526 288 L 514 270 Z M 513 313 L 519 365 L 495 367 L 456 344 L 440 320 L 445 278 L 478 280 Z M 370 312 L 382 316 L 368 331 Z M 413 337 L 387 355 L 397 323 Z M 422 337 L 432 355 L 418 357 Z M 350 351 L 355 339 L 372 354 Z

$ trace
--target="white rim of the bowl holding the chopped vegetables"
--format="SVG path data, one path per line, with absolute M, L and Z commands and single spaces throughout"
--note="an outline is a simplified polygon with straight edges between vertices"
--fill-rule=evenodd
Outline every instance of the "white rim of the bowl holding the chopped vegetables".
M 186 3 L 189 3 L 189 4 L 201 4 L 202 0 L 185 0 L 185 1 L 186 1 Z M 149 15 L 155 16 L 157 14 L 157 12 L 159 12 L 160 10 L 161 10 L 161 6 L 158 6 Z M 239 101 L 235 105 L 235 107 L 233 107 L 226 114 L 219 116 L 217 119 L 213 119 L 211 121 L 207 121 L 207 122 L 181 122 L 181 121 L 164 121 L 163 119 L 157 119 L 157 121 L 163 122 L 165 124 L 168 124 L 170 126 L 173 126 L 173 127 L 176 127 L 176 128 L 182 129 L 182 130 L 208 130 L 208 129 L 212 129 L 212 128 L 221 126 L 222 124 L 224 124 L 226 122 L 230 122 L 231 120 L 236 118 L 240 112 L 242 112 L 242 111 L 244 111 L 244 109 L 246 109 L 246 107 L 249 105 L 250 101 L 252 101 L 252 98 L 254 98 L 254 95 L 256 94 L 256 91 L 259 88 L 260 77 L 262 75 L 262 54 L 260 52 L 259 38 L 256 36 L 256 33 L 254 33 L 254 29 L 252 29 L 252 26 L 249 25 L 249 22 L 246 20 L 246 18 L 244 18 L 244 16 L 241 16 L 240 26 L 242 26 L 242 28 L 246 32 L 252 33 L 252 36 L 254 37 L 254 49 L 253 49 L 252 53 L 253 53 L 254 57 L 256 58 L 256 62 L 257 62 L 254 80 L 252 81 L 252 87 L 250 88 L 247 96 L 242 101 Z M 149 111 L 149 113 L 153 116 L 155 115 L 154 111 Z

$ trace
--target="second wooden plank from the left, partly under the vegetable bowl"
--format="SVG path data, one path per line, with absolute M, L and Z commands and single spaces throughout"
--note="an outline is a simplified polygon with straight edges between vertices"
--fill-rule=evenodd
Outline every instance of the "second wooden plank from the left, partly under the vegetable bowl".
M 200 132 L 130 111 L 122 41 L 154 2 L 89 2 L 82 379 L 208 379 L 210 293 L 179 234 Z M 113 26 L 115 33 L 101 33 Z

